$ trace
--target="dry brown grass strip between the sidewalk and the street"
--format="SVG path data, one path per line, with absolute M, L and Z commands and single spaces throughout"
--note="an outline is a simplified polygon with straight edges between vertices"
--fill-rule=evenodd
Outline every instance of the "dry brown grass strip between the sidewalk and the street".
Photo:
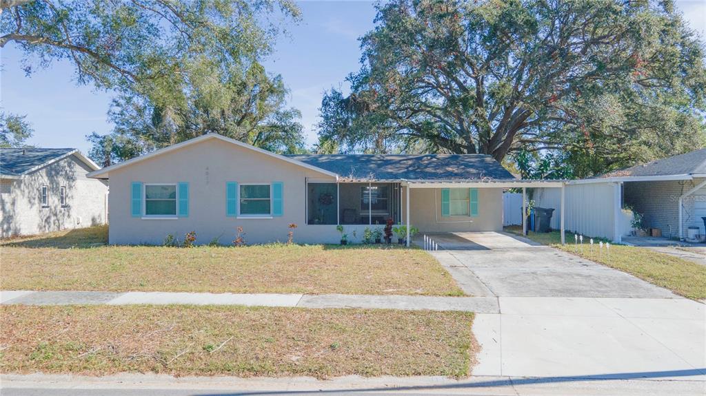
M 0 371 L 100 376 L 453 376 L 473 314 L 246 307 L 0 307 Z

